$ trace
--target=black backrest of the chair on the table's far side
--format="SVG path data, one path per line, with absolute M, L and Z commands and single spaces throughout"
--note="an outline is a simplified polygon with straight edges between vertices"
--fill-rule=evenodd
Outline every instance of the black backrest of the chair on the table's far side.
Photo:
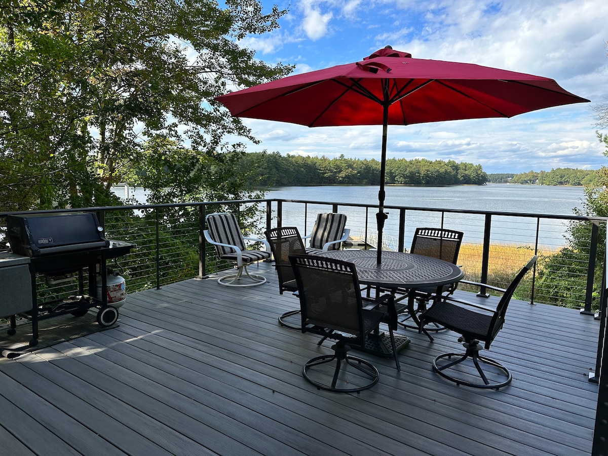
M 416 228 L 410 253 L 456 264 L 463 234 L 442 228 Z

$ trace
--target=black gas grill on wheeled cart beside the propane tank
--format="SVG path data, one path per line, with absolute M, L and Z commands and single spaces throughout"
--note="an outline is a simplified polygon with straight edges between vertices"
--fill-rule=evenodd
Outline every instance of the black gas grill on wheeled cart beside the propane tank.
M 32 311 L 22 314 L 32 320 L 33 339 L 38 339 L 38 320 L 71 313 L 83 316 L 97 306 L 97 322 L 110 326 L 118 319 L 118 309 L 108 305 L 105 292 L 99 299 L 97 274 L 102 290 L 107 286 L 106 261 L 128 254 L 134 244 L 106 240 L 97 216 L 91 212 L 54 212 L 7 215 L 7 238 L 14 254 L 30 257 Z M 38 305 L 36 276 L 50 277 L 78 273 L 78 292 L 69 299 Z M 85 274 L 86 273 L 86 274 Z M 88 290 L 85 293 L 85 275 Z M 12 328 L 14 330 L 14 327 Z

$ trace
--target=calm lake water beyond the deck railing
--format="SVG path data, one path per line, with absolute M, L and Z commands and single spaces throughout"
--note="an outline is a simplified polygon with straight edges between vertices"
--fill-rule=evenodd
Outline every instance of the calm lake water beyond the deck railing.
M 430 209 L 479 210 L 489 212 L 536 213 L 541 215 L 573 215 L 573 208 L 582 208 L 584 189 L 582 187 L 541 187 L 537 185 L 488 184 L 457 187 L 409 187 L 390 185 L 385 188 L 385 206 L 421 207 Z M 123 187 L 115 192 L 125 195 Z M 145 192 L 131 188 L 130 196 L 145 202 Z M 378 205 L 378 187 L 375 186 L 318 186 L 280 187 L 267 193 L 267 198 L 295 199 L 336 203 Z M 309 233 L 314 223 L 314 213 L 326 212 L 323 206 L 309 206 L 305 216 L 301 204 L 283 204 L 283 226 L 298 226 L 302 233 Z M 368 237 L 375 232 L 375 209 L 368 213 L 364 209 L 340 207 L 348 217 L 351 235 Z M 398 242 L 398 214 L 390 212 L 384 229 L 384 247 L 395 249 Z M 448 213 L 441 219 L 441 213 L 409 211 L 406 215 L 406 246 L 413 238 L 417 226 L 437 227 L 466 232 L 466 242 L 481 243 L 484 235 L 483 216 Z M 536 243 L 536 218 L 494 216 L 492 218 L 491 241 L 493 243 Z M 545 246 L 565 245 L 567 222 L 555 219 L 541 219 L 538 243 Z M 372 239 L 373 241 L 373 239 Z

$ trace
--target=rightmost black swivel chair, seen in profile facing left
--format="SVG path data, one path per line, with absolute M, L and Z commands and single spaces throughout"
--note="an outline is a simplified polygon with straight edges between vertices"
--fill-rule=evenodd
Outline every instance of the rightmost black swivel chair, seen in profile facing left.
M 465 300 L 454 299 L 454 297 L 442 297 L 421 314 L 421 325 L 435 322 L 445 326 L 449 330 L 462 334 L 462 337 L 460 337 L 458 341 L 463 342 L 465 353 L 440 354 L 433 360 L 433 370 L 435 372 L 443 378 L 455 382 L 457 385 L 465 385 L 474 388 L 497 390 L 510 384 L 513 379 L 511 372 L 502 364 L 499 364 L 499 362 L 481 356 L 479 352 L 483 350 L 483 348 L 488 350 L 490 344 L 502 329 L 502 326 L 505 323 L 506 308 L 513 297 L 513 292 L 521 282 L 523 276 L 533 268 L 537 258 L 538 257 L 534 255 L 531 260 L 528 261 L 528 264 L 519 271 L 506 290 L 482 283 L 475 284 L 502 292 L 502 297 L 500 298 L 496 309 L 490 309 L 486 306 L 467 302 Z M 485 342 L 483 348 L 480 346 L 480 342 Z M 452 356 L 458 356 L 458 359 L 440 365 L 442 359 L 451 359 Z M 465 363 L 469 358 L 475 368 L 472 368 L 469 362 Z M 482 370 L 480 362 L 489 366 L 490 370 L 488 373 Z M 451 370 L 454 374 L 450 375 L 446 373 L 447 370 Z M 474 381 L 474 378 L 478 378 L 477 375 L 482 378 L 483 383 Z

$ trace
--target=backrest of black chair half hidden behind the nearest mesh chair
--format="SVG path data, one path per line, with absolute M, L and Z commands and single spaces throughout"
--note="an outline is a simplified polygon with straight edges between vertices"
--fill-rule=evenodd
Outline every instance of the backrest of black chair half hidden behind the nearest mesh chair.
M 285 290 L 297 290 L 289 255 L 305 253 L 304 241 L 300 237 L 300 232 L 295 226 L 283 226 L 268 230 L 264 234 L 270 243 L 275 268 L 277 268 L 278 291 L 283 294 Z

